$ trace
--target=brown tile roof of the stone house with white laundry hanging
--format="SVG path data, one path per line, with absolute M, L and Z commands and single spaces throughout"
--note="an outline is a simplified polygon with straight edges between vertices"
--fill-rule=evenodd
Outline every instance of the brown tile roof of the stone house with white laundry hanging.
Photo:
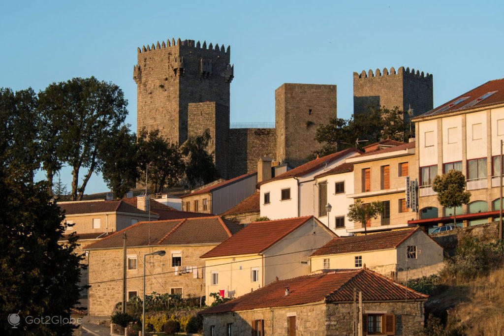
M 187 218 L 166 221 L 138 222 L 108 237 L 86 246 L 86 249 L 120 248 L 122 234 L 127 235 L 127 246 L 149 246 L 170 244 L 214 244 L 221 243 L 238 232 L 241 225 L 222 220 L 219 216 Z

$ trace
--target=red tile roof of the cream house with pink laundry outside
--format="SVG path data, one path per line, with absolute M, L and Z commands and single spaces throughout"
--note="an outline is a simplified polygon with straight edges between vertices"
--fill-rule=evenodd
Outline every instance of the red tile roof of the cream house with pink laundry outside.
M 313 216 L 305 216 L 250 223 L 201 258 L 260 253 L 312 218 Z

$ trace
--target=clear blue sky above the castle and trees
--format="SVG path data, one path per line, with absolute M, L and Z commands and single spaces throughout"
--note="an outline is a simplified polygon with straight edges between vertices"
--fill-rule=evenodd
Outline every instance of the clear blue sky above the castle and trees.
M 95 76 L 122 88 L 136 129 L 137 47 L 180 37 L 231 45 L 231 122 L 274 121 L 282 83 L 336 84 L 347 118 L 354 71 L 401 65 L 433 74 L 437 106 L 504 77 L 503 19 L 497 1 L 4 0 L 0 87 Z M 86 193 L 106 189 L 94 176 Z

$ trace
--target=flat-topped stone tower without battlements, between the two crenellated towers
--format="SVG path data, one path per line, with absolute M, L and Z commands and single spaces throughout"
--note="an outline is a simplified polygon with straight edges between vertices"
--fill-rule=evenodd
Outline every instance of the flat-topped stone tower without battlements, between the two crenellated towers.
M 321 147 L 314 138 L 336 118 L 336 85 L 285 83 L 275 90 L 277 161 L 296 167 Z

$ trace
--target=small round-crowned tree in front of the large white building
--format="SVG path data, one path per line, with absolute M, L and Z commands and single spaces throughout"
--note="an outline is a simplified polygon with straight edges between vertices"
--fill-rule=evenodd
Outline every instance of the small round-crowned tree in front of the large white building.
M 453 223 L 457 223 L 455 209 L 468 204 L 471 193 L 465 191 L 466 177 L 462 172 L 452 169 L 444 175 L 437 175 L 432 181 L 432 190 L 437 192 L 439 204 L 446 208 L 453 208 Z

